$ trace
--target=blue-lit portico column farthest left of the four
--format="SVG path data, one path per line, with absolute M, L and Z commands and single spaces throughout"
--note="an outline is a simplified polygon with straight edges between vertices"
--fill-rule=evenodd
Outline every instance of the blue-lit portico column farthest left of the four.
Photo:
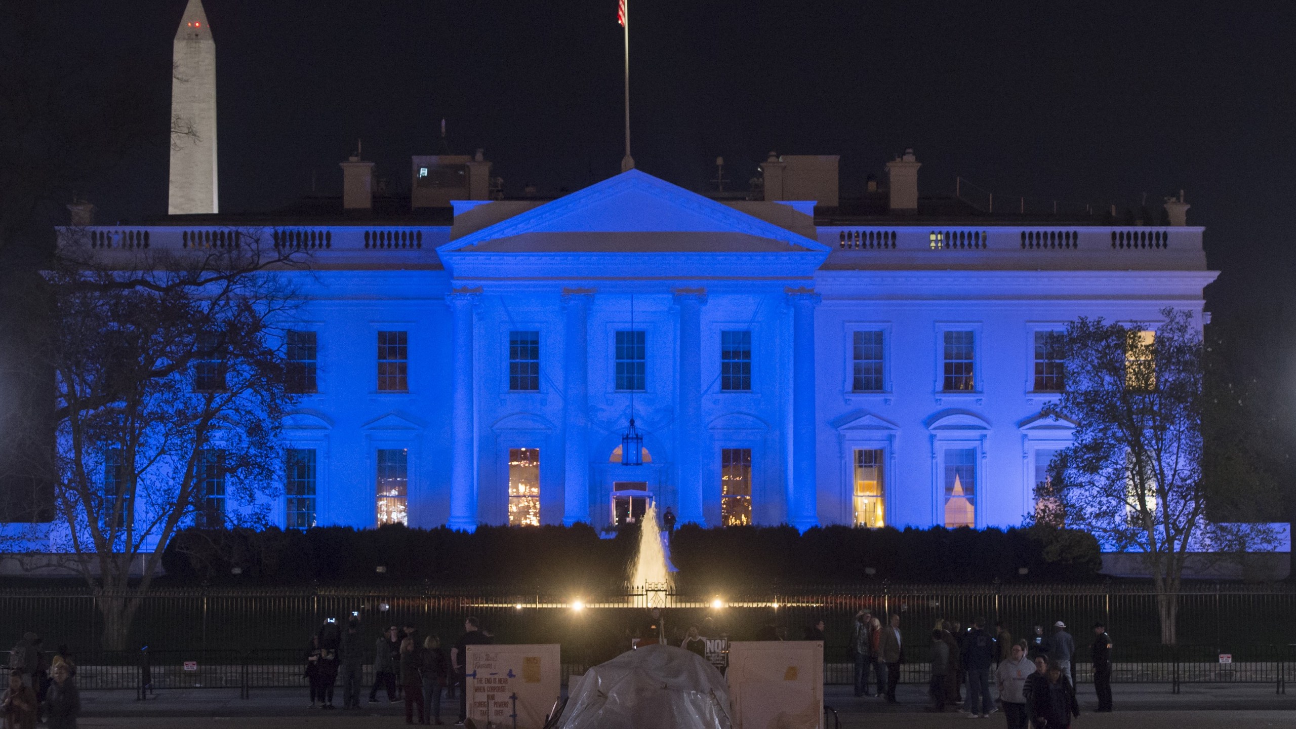
M 477 528 L 477 480 L 473 448 L 473 309 L 481 288 L 456 288 L 446 304 L 454 313 L 454 372 L 450 401 L 450 521 L 451 529 Z

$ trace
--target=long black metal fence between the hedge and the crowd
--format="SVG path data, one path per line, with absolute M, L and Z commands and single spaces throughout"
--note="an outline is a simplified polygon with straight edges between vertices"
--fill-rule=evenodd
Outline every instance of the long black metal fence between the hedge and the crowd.
M 474 615 L 496 641 L 508 643 L 561 643 L 562 660 L 592 665 L 629 647 L 644 621 L 643 608 L 597 607 L 570 610 L 575 598 L 587 604 L 642 604 L 626 595 L 562 595 L 517 588 L 469 590 L 439 588 L 390 589 L 168 589 L 141 599 L 128 634 L 113 645 L 105 636 L 97 598 L 75 589 L 0 590 L 0 651 L 13 646 L 25 632 L 44 637 L 44 647 L 67 645 L 83 665 L 139 665 L 139 649 L 172 663 L 156 663 L 159 682 L 205 681 L 207 685 L 259 687 L 290 684 L 299 673 L 306 645 L 325 617 L 345 623 L 353 615 L 371 638 L 389 625 L 415 625 L 425 634 L 441 636 L 448 645 L 461 632 L 463 619 Z M 1284 684 L 1287 663 L 1296 655 L 1296 589 L 1288 584 L 1239 585 L 1192 584 L 1178 595 L 1179 647 L 1160 645 L 1157 598 L 1146 584 L 1104 585 L 889 585 L 885 582 L 841 586 L 798 586 L 748 595 L 661 595 L 666 625 L 682 636 L 697 624 L 704 633 L 750 639 L 772 625 L 788 638 L 802 637 L 818 619 L 827 624 L 824 659 L 829 682 L 849 682 L 848 643 L 854 614 L 899 615 L 907 663 L 902 680 L 925 680 L 928 634 L 937 620 L 985 617 L 1002 620 L 1017 638 L 1034 624 L 1051 632 L 1063 620 L 1076 636 L 1077 660 L 1087 658 L 1090 627 L 1108 625 L 1115 641 L 1117 681 L 1166 682 L 1178 686 L 1194 681 L 1274 681 Z M 713 606 L 713 601 L 719 601 Z M 101 652 L 105 646 L 126 649 Z M 1220 664 L 1220 654 L 1232 654 L 1234 663 Z M 181 659 L 181 655 L 200 656 Z M 104 656 L 101 660 L 98 656 Z M 223 656 L 223 658 L 216 658 Z M 240 658 L 244 656 L 244 658 Z M 276 656 L 271 660 L 267 656 Z M 198 669 L 184 677 L 184 660 Z M 215 663 L 213 663 L 215 660 Z M 175 663 L 179 662 L 179 663 Z M 179 665 L 178 669 L 170 665 Z M 246 664 L 246 669 L 244 665 Z M 167 665 L 168 668 L 161 668 Z M 203 665 L 235 665 L 220 669 Z M 257 668 L 257 667 L 285 668 Z M 295 667 L 295 668 L 286 668 Z M 248 672 L 248 676 L 244 676 Z M 1083 681 L 1087 668 L 1077 665 Z M 104 673 L 105 676 L 111 672 Z M 124 673 L 123 673 L 124 675 Z M 175 675 L 172 678 L 171 676 Z M 237 676 L 237 680 L 235 678 Z M 305 685 L 305 678 L 297 678 Z M 104 678 L 104 681 L 111 681 Z M 124 678 L 123 678 L 124 681 Z M 159 684 L 161 685 L 161 684 Z

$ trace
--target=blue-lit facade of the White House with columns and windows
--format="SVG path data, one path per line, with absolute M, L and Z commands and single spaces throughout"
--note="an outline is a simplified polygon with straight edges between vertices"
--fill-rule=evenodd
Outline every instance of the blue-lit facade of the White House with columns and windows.
M 706 525 L 1015 525 L 1069 437 L 1039 416 L 1037 332 L 1200 313 L 1216 275 L 1196 227 L 813 210 L 631 170 L 456 202 L 451 226 L 280 226 L 329 241 L 289 324 L 316 342 L 285 424 L 315 451 L 311 519 L 601 528 L 653 498 Z M 630 390 L 640 466 L 619 463 Z

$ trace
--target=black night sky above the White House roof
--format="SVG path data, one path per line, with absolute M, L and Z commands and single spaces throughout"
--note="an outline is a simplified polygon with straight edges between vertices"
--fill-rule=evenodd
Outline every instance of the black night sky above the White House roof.
M 127 9 L 128 8 L 128 9 Z M 165 64 L 184 0 L 62 3 L 88 62 Z M 618 171 L 616 0 L 207 0 L 216 39 L 222 211 L 341 189 L 364 139 L 378 175 L 486 149 L 509 193 Z M 634 153 L 712 189 L 765 153 L 841 154 L 844 195 L 905 147 L 924 195 L 962 175 L 1007 198 L 1137 206 L 1187 191 L 1218 289 L 1286 276 L 1296 193 L 1292 3 L 753 3 L 632 0 Z M 156 78 L 154 78 L 156 77 Z M 166 125 L 165 104 L 158 125 Z M 166 210 L 165 148 L 84 195 L 102 219 Z M 1258 280 L 1258 279 L 1257 279 Z M 1243 287 L 1248 288 L 1248 287 Z

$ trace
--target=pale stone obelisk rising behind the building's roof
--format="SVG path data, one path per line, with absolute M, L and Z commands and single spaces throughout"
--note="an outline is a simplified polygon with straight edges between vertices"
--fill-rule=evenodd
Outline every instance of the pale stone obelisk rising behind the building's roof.
M 167 213 L 218 213 L 216 189 L 216 43 L 202 0 L 189 0 L 175 34 L 171 123 L 192 128 L 172 135 Z

